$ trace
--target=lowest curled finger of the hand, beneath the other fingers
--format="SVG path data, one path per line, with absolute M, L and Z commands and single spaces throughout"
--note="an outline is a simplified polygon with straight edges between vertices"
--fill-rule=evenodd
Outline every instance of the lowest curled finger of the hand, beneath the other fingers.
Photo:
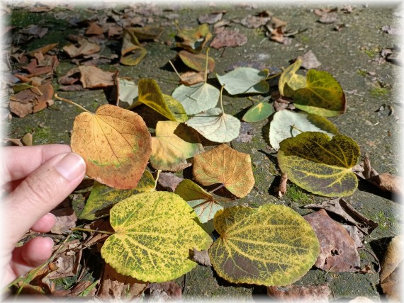
M 45 263 L 52 256 L 52 247 L 52 239 L 38 236 L 23 246 L 15 248 L 10 266 L 4 276 L 4 284 Z

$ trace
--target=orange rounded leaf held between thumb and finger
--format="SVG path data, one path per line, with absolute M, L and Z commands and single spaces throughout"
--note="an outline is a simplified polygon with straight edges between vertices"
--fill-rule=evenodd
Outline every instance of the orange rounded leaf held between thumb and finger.
M 84 112 L 73 125 L 72 151 L 86 161 L 86 174 L 113 188 L 136 188 L 152 152 L 142 117 L 114 105 Z

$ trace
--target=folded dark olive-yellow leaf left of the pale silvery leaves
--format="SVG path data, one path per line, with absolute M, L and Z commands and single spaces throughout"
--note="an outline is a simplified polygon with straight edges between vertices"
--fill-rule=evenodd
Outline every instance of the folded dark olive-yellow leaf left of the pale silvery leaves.
M 176 121 L 176 117 L 169 109 L 164 100 L 162 91 L 160 91 L 157 82 L 153 79 L 140 79 L 139 83 L 139 102 L 149 106 L 157 113 L 164 115 L 169 120 Z

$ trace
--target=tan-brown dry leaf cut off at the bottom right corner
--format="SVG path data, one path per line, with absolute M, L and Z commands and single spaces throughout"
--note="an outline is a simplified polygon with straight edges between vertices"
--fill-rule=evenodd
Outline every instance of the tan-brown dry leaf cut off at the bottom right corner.
M 392 301 L 402 302 L 403 297 L 403 244 L 404 236 L 395 236 L 387 246 L 386 254 L 381 263 L 380 282 L 383 293 Z

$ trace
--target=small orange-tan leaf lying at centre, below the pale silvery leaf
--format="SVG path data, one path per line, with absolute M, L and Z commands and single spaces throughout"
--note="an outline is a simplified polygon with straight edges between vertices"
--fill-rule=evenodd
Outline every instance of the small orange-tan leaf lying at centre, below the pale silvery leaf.
M 248 195 L 255 183 L 249 154 L 226 144 L 194 156 L 193 177 L 202 185 L 221 183 L 239 198 Z

